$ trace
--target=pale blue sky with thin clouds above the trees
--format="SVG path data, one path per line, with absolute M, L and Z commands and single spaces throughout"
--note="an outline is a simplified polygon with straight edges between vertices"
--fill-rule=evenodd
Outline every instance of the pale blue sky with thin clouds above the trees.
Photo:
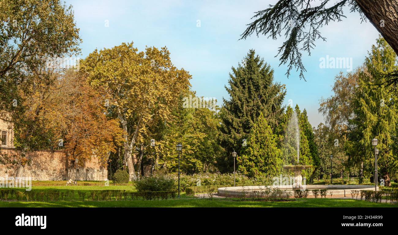
M 246 24 L 252 22 L 254 12 L 275 2 L 66 0 L 67 5 L 73 6 L 76 25 L 80 28 L 81 58 L 95 49 L 111 48 L 123 42 L 133 41 L 139 51 L 146 46 L 166 46 L 173 64 L 192 75 L 192 90 L 198 96 L 215 97 L 221 105 L 223 97 L 229 99 L 224 85 L 228 84 L 231 67 L 238 66 L 248 51 L 255 49 L 274 69 L 275 82 L 286 85 L 284 104 L 289 105 L 291 100 L 293 106 L 305 108 L 312 126 L 318 126 L 324 122 L 318 113 L 320 99 L 333 95 L 332 85 L 340 71 L 347 73 L 347 68 L 322 67 L 322 58 L 348 57 L 354 70 L 363 64 L 378 32 L 369 21 L 361 23 L 359 14 L 350 13 L 346 7 L 347 18 L 321 29 L 327 41 L 316 41 L 310 56 L 303 52 L 306 81 L 300 80 L 295 70 L 287 78 L 287 66 L 279 66 L 279 57 L 275 57 L 285 41 L 283 35 L 277 40 L 263 35 L 239 40 Z

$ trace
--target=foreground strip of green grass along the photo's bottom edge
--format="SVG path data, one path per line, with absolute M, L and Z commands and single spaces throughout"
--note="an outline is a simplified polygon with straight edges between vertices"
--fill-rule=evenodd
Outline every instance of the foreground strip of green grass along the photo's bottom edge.
M 398 207 L 353 199 L 303 198 L 288 202 L 265 202 L 234 199 L 127 200 L 127 201 L 0 201 L 0 207 Z

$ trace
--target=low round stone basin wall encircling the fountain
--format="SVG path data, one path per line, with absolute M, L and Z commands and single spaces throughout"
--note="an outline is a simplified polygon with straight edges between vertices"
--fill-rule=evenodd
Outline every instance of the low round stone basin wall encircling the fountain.
M 267 188 L 279 188 L 283 190 L 283 196 L 287 196 L 287 193 L 290 193 L 290 198 L 294 198 L 293 185 L 268 185 L 268 186 L 235 186 L 235 187 L 222 187 L 218 188 L 218 196 L 226 196 L 226 197 L 238 197 L 241 198 L 242 196 L 245 197 L 252 197 L 252 192 L 257 191 L 259 192 L 257 195 L 259 197 L 265 197 L 261 195 L 261 191 L 266 190 Z M 303 185 L 301 190 L 308 189 L 308 198 L 314 198 L 314 194 L 312 194 L 311 190 L 315 189 L 328 189 L 327 197 L 330 197 L 330 192 L 332 192 L 332 197 L 334 198 L 341 198 L 341 197 L 351 197 L 351 190 L 375 190 L 375 186 L 372 185 Z M 378 190 L 378 188 L 377 188 Z M 320 196 L 318 196 L 320 197 Z

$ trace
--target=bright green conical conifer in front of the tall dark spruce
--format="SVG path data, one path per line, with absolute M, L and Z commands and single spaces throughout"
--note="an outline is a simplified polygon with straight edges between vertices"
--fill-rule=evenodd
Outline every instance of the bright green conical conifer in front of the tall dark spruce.
M 248 136 L 248 146 L 238 156 L 238 171 L 248 177 L 273 177 L 281 172 L 281 150 L 277 138 L 262 113 L 257 118 Z

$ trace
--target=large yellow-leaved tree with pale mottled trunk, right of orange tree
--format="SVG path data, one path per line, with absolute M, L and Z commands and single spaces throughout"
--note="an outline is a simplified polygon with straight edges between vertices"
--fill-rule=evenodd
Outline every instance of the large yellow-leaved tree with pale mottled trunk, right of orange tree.
M 111 95 L 110 112 L 125 132 L 123 163 L 130 179 L 137 179 L 132 156 L 137 138 L 145 136 L 149 126 L 172 118 L 170 112 L 187 91 L 191 76 L 172 64 L 166 47 L 138 52 L 133 43 L 95 50 L 80 67 L 93 87 Z

